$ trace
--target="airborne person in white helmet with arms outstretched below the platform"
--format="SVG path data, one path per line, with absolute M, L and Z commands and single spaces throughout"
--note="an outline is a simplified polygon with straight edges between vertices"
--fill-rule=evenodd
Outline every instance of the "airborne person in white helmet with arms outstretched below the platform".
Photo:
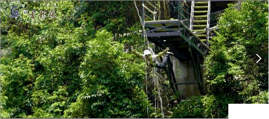
M 144 58 L 145 59 L 145 62 L 147 64 L 147 66 L 152 66 L 152 67 L 157 67 L 157 68 L 160 68 L 160 69 L 163 69 L 166 67 L 167 65 L 167 61 L 168 61 L 168 54 L 173 54 L 171 52 L 168 52 L 169 48 L 166 47 L 166 49 L 158 54 L 152 54 L 150 50 L 145 50 L 144 51 L 144 54 L 141 54 L 139 52 L 136 52 L 134 51 L 134 47 L 131 46 L 131 51 L 136 54 L 137 56 L 141 57 L 141 58 Z M 163 62 L 162 63 L 158 63 L 157 62 L 157 58 L 158 57 L 161 57 L 164 55 L 164 58 L 163 58 Z

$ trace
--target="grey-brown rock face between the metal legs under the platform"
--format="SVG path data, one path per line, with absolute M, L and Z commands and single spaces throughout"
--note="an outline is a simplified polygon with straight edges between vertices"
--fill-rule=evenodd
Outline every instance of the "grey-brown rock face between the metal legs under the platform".
M 174 56 L 170 56 L 175 75 L 176 83 L 187 83 L 197 81 L 194 66 L 191 60 L 179 61 Z M 198 84 L 181 84 L 177 85 L 181 93 L 181 99 L 190 98 L 191 96 L 201 95 Z

